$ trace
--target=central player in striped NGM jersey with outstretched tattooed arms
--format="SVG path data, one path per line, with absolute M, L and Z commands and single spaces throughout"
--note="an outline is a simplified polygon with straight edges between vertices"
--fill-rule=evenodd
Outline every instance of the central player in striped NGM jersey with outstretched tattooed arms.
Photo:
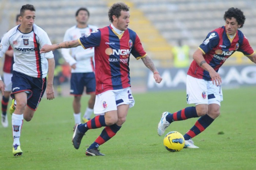
M 115 3 L 108 11 L 112 24 L 90 34 L 60 44 L 44 45 L 41 53 L 58 48 L 94 47 L 96 100 L 94 118 L 84 124 L 74 126 L 72 142 L 79 148 L 82 137 L 89 129 L 105 126 L 98 138 L 86 149 L 88 156 L 104 155 L 99 152 L 99 146 L 111 139 L 120 130 L 126 120 L 130 107 L 135 103 L 131 92 L 129 75 L 129 57 L 132 54 L 154 73 L 157 83 L 162 81 L 151 58 L 144 51 L 138 35 L 128 29 L 129 7 L 124 3 Z

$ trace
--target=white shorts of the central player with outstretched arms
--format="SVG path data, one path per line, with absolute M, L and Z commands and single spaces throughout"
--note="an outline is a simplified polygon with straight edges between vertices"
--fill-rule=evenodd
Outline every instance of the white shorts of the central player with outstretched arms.
M 119 105 L 134 106 L 134 99 L 130 87 L 119 90 L 108 90 L 96 95 L 94 114 L 104 114 L 111 110 L 117 110 Z

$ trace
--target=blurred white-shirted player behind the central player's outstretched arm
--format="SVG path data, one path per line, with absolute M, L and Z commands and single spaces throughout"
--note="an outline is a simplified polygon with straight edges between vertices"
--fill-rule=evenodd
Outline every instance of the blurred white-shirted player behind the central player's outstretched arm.
M 77 24 L 69 28 L 64 35 L 63 41 L 76 40 L 98 29 L 87 24 L 90 13 L 87 8 L 79 8 L 76 11 Z M 73 110 L 75 123 L 81 123 L 81 96 L 86 87 L 86 94 L 90 94 L 88 106 L 83 115 L 83 122 L 90 120 L 95 103 L 95 71 L 94 71 L 94 48 L 84 50 L 82 46 L 71 49 L 61 49 L 64 59 L 71 66 L 70 94 L 74 95 Z

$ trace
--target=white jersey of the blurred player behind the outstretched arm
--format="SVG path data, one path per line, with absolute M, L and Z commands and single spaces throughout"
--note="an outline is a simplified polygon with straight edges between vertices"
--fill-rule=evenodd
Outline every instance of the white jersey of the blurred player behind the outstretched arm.
M 83 29 L 73 26 L 65 32 L 63 41 L 79 39 L 97 29 L 98 27 L 92 25 Z M 63 48 L 61 53 L 70 66 L 76 63 L 76 69 L 72 68 L 71 73 L 94 72 L 94 47 L 89 49 L 83 49 L 82 46 L 70 49 Z

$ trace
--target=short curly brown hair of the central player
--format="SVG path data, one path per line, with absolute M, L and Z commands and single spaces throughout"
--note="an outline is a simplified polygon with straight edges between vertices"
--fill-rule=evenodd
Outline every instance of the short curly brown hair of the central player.
M 129 11 L 129 7 L 125 3 L 115 3 L 109 8 L 108 16 L 109 16 L 109 21 L 113 22 L 112 16 L 116 16 L 119 18 L 121 15 L 121 11 Z

